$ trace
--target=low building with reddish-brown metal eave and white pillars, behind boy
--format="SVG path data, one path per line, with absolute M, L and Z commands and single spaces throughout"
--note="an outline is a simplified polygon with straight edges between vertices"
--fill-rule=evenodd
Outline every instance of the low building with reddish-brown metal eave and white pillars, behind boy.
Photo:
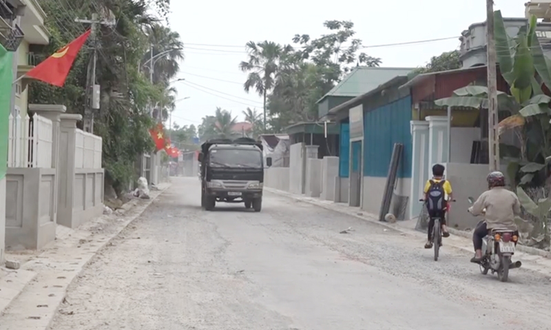
M 432 176 L 435 163 L 446 166 L 446 178 L 453 185 L 457 203 L 452 208 L 467 209 L 468 196 L 478 196 L 486 186 L 488 174 L 488 110 L 437 107 L 434 101 L 452 96 L 466 85 L 486 85 L 486 66 L 419 74 L 401 87 L 412 103 L 410 122 L 412 155 L 407 218 L 415 218 L 422 205 L 424 183 Z M 497 89 L 507 92 L 509 86 L 497 74 Z M 501 143 L 514 144 L 514 135 L 502 136 Z M 461 212 L 450 212 L 449 225 L 459 229 L 473 228 L 478 219 Z

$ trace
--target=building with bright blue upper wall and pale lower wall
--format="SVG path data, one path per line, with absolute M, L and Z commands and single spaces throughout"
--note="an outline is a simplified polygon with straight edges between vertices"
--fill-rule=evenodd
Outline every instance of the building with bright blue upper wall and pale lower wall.
M 339 174 L 341 200 L 359 198 L 360 206 L 368 212 L 378 214 L 386 185 L 388 167 L 391 163 L 395 143 L 404 145 L 394 198 L 407 203 L 411 181 L 412 141 L 410 121 L 412 99 L 408 90 L 399 87 L 408 81 L 404 72 L 380 84 L 375 89 L 346 101 L 328 112 L 328 116 L 340 123 Z M 351 138 L 351 110 L 362 107 L 362 136 Z M 354 128 L 353 128 L 354 130 Z M 360 158 L 361 161 L 358 161 Z M 351 176 L 360 167 L 362 178 Z M 358 181 L 358 182 L 355 182 Z M 360 194 L 360 196 L 353 196 Z M 403 201 L 405 200 L 405 202 Z M 351 203 L 353 205 L 353 203 Z M 397 205 L 405 210 L 405 205 Z M 402 217 L 405 214 L 397 214 Z

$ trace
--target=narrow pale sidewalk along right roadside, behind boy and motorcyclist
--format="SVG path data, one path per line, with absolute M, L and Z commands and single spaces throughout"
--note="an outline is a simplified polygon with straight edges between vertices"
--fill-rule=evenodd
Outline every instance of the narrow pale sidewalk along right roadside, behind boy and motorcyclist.
M 264 187 L 267 192 L 273 194 L 278 194 L 280 196 L 286 196 L 294 200 L 299 200 L 304 203 L 309 203 L 324 209 L 329 209 L 333 212 L 339 212 L 342 214 L 347 214 L 349 216 L 354 216 L 362 220 L 370 221 L 372 223 L 377 223 L 383 227 L 391 228 L 397 231 L 400 231 L 408 236 L 412 236 L 415 239 L 419 239 L 419 245 L 422 245 L 426 240 L 426 234 L 423 234 L 420 231 L 415 230 L 415 225 L 417 220 L 403 220 L 397 221 L 396 223 L 385 223 L 378 220 L 378 216 L 375 214 L 369 214 L 368 212 L 363 211 L 360 207 L 351 207 L 346 203 L 335 203 L 330 200 L 321 200 L 320 198 L 299 196 L 296 194 L 291 194 L 289 192 L 283 192 L 281 190 Z M 457 229 L 450 228 L 450 237 L 444 240 L 444 246 L 451 246 L 457 249 L 462 249 L 468 251 L 470 254 L 472 251 L 472 234 L 470 231 L 460 231 Z M 466 262 L 468 258 L 465 259 Z M 522 262 L 523 269 L 530 269 L 531 271 L 537 271 L 540 274 L 548 276 L 551 280 L 551 254 L 547 251 L 542 251 L 539 249 L 534 249 L 533 247 L 524 247 L 519 245 L 517 247 L 517 252 L 514 254 L 514 260 L 520 260 Z M 0 328 L 1 329 L 1 328 Z

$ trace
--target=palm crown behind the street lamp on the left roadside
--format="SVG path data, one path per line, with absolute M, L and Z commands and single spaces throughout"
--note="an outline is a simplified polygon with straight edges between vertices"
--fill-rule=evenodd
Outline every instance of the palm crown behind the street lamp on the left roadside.
M 180 34 L 157 23 L 149 25 L 146 30 L 149 43 L 151 43 L 153 48 L 153 56 L 169 51 L 167 55 L 160 56 L 154 60 L 153 81 L 154 83 L 169 81 L 176 76 L 180 69 L 178 61 L 182 61 L 185 58 L 183 52 L 184 43 L 180 40 Z M 151 56 L 151 49 L 149 49 L 147 54 L 144 54 L 143 63 L 149 61 Z M 147 74 L 149 74 L 150 65 L 152 63 L 148 63 L 147 65 Z

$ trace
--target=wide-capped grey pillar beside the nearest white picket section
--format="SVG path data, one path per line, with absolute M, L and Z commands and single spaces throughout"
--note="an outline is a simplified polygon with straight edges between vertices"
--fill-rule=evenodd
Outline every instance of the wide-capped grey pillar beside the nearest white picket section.
M 59 126 L 61 123 L 61 114 L 67 112 L 65 105 L 59 104 L 30 104 L 29 111 L 50 119 L 52 121 L 52 168 L 56 169 L 56 178 L 59 177 Z M 54 187 L 54 219 L 57 219 L 57 204 L 58 204 L 58 184 L 55 181 Z

